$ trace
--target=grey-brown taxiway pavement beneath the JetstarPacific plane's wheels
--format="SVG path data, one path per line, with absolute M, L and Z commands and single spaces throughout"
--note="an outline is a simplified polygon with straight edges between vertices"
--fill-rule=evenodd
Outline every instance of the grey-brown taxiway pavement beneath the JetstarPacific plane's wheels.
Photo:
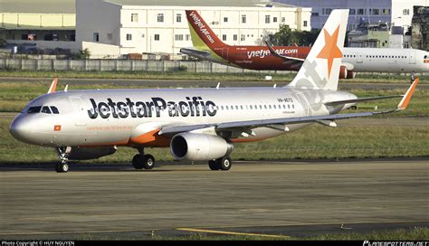
M 0 164 L 0 238 L 176 228 L 288 235 L 297 226 L 305 235 L 326 232 L 322 225 L 427 226 L 428 177 L 427 159 L 237 161 L 228 172 L 176 163 L 149 171 L 87 164 L 67 174 L 55 173 L 52 164 Z

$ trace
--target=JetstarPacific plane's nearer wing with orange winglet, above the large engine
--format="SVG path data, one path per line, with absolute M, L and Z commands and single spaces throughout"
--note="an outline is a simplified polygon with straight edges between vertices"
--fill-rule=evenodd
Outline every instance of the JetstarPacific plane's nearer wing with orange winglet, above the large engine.
M 243 121 L 234 121 L 234 122 L 224 122 L 217 124 L 198 124 L 198 125 L 183 125 L 183 126 L 166 126 L 161 128 L 159 135 L 174 135 L 181 132 L 193 131 L 202 128 L 215 128 L 216 130 L 234 130 L 237 128 L 261 128 L 261 127 L 272 127 L 276 125 L 287 125 L 287 124 L 300 124 L 300 123 L 310 123 L 318 122 L 323 120 L 333 121 L 336 119 L 344 118 L 358 118 L 358 117 L 367 117 L 374 116 L 379 114 L 393 113 L 400 110 L 406 109 L 408 103 L 415 91 L 417 86 L 418 79 L 416 79 L 410 88 L 406 91 L 405 95 L 397 105 L 396 109 L 386 110 L 386 111 L 375 111 L 375 112 L 361 112 L 361 113 L 350 113 L 350 114 L 335 114 L 335 115 L 326 115 L 326 116 L 305 116 L 305 117 L 295 117 L 295 118 L 272 118 L 272 119 L 261 119 L 261 120 L 243 120 Z M 392 96 L 397 97 L 397 96 Z M 386 97 L 381 97 L 386 98 Z M 370 98 L 373 99 L 373 98 Z M 344 102 L 345 101 L 345 102 Z M 352 100 L 344 100 L 342 103 L 348 103 Z M 356 99 L 355 99 L 356 101 Z

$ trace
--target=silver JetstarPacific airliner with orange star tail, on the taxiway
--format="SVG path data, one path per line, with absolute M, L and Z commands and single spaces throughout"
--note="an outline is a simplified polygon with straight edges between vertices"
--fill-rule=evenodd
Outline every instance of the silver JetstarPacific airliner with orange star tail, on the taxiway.
M 205 160 L 212 170 L 229 170 L 234 143 L 275 137 L 311 123 L 335 127 L 336 119 L 405 109 L 418 79 L 405 96 L 358 99 L 338 91 L 338 73 L 348 10 L 334 10 L 296 78 L 282 88 L 155 90 L 55 90 L 33 99 L 10 126 L 26 143 L 53 147 L 67 172 L 68 160 L 113 154 L 133 147 L 132 164 L 150 169 L 145 147 L 169 147 L 177 160 Z M 206 33 L 210 38 L 210 33 Z M 402 97 L 397 109 L 338 114 L 361 101 Z

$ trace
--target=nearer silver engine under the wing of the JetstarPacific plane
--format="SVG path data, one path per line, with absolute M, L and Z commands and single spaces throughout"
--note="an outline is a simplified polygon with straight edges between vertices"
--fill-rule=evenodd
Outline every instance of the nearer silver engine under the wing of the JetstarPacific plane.
M 170 142 L 170 152 L 177 160 L 213 160 L 228 156 L 233 149 L 224 138 L 201 133 L 180 133 Z

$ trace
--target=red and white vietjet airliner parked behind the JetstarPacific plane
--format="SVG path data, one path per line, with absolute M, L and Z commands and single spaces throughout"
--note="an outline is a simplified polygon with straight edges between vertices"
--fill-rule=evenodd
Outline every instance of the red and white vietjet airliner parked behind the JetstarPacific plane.
M 194 48 L 187 55 L 250 70 L 298 71 L 310 47 L 228 45 L 223 43 L 195 10 L 186 10 Z M 429 52 L 394 48 L 344 48 L 340 79 L 356 72 L 429 72 Z

